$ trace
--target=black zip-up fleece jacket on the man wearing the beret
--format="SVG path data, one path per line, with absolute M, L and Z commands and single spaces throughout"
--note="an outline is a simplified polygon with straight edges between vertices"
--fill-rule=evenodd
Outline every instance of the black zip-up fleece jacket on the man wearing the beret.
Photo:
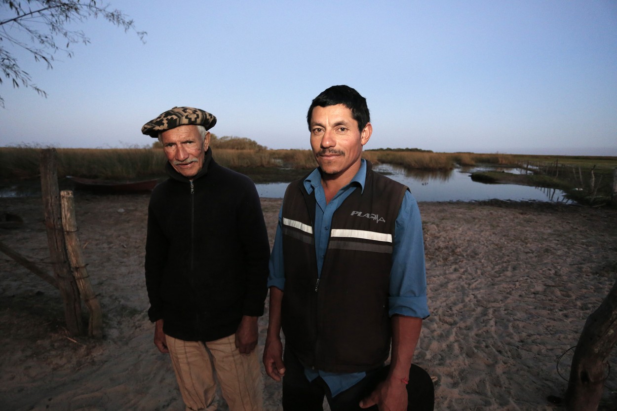
M 190 181 L 170 178 L 150 199 L 146 288 L 152 322 L 184 341 L 236 332 L 242 315 L 263 315 L 270 245 L 254 183 L 205 153 Z

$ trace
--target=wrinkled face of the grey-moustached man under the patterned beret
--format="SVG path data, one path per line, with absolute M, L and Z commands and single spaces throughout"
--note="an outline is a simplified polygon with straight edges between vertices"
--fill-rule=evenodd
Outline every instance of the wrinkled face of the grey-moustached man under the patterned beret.
M 193 178 L 204 166 L 210 133 L 202 139 L 197 126 L 182 125 L 160 134 L 165 156 L 181 175 Z

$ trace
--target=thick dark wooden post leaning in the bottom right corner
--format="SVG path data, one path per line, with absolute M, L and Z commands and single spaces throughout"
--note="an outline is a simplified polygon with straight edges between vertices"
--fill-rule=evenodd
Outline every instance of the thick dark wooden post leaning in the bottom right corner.
M 598 409 L 608 357 L 617 343 L 617 281 L 600 307 L 585 322 L 570 369 L 566 407 L 568 411 Z

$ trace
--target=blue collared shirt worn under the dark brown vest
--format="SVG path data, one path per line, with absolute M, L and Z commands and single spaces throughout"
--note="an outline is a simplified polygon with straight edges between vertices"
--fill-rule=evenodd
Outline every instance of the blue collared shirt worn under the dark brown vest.
M 317 274 L 321 276 L 323 259 L 328 248 L 332 216 L 349 194 L 354 190 L 364 190 L 366 180 L 366 161 L 362 160 L 360 170 L 350 183 L 341 188 L 326 204 L 326 195 L 321 186 L 321 173 L 316 168 L 305 180 L 307 193 L 315 191 L 315 254 L 317 255 Z M 268 287 L 274 286 L 284 291 L 285 274 L 283 265 L 283 239 L 281 215 L 276 227 L 275 243 L 270 255 L 270 275 Z M 426 302 L 426 273 L 424 268 L 424 241 L 422 220 L 418 203 L 409 191 L 405 192 L 396 218 L 392 251 L 392 270 L 390 273 L 389 315 L 400 314 L 408 317 L 426 318 L 429 315 Z M 364 378 L 365 373 L 329 373 L 307 368 L 305 375 L 309 381 L 318 376 L 328 384 L 332 396 L 354 386 Z

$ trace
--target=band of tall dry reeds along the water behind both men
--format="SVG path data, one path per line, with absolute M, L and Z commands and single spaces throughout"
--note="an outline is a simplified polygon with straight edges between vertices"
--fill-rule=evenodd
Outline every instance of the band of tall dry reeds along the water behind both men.
M 39 175 L 41 147 L 0 147 L 0 178 L 33 178 Z M 59 176 L 129 179 L 164 175 L 165 155 L 160 148 L 56 149 Z M 297 168 L 317 166 L 311 150 L 213 148 L 217 162 L 230 168 Z M 503 154 L 434 153 L 371 150 L 363 157 L 374 164 L 400 165 L 407 170 L 449 170 L 476 163 L 515 165 L 515 156 Z

